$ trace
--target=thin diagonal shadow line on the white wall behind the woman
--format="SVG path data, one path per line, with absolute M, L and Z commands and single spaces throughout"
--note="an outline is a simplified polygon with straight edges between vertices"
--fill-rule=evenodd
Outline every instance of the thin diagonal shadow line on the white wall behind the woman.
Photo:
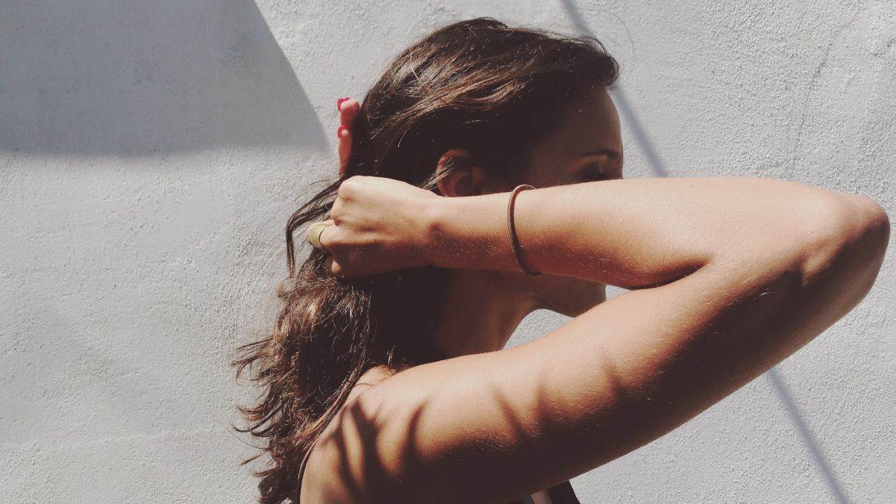
M 582 13 L 580 13 L 578 7 L 573 4 L 573 0 L 560 0 L 560 4 L 563 5 L 564 10 L 567 15 L 569 15 L 570 20 L 573 22 L 573 26 L 575 26 L 575 30 L 582 35 L 594 36 L 594 33 L 588 27 L 588 23 L 582 18 Z M 666 167 L 663 166 L 662 161 L 660 161 L 653 143 L 650 142 L 650 136 L 647 135 L 647 132 L 641 126 L 629 101 L 625 98 L 625 93 L 619 86 L 616 86 L 616 89 L 613 91 L 613 98 L 614 101 L 616 101 L 616 104 L 619 105 L 620 112 L 623 117 L 625 117 L 626 124 L 632 127 L 635 138 L 640 144 L 644 154 L 647 156 L 647 160 L 650 162 L 650 168 L 652 168 L 659 177 L 668 177 L 668 169 L 666 169 Z M 788 392 L 787 386 L 783 378 L 780 377 L 778 370 L 773 367 L 766 371 L 765 374 L 769 377 L 771 386 L 775 389 L 781 402 L 784 403 L 791 420 L 797 426 L 797 430 L 799 430 L 806 447 L 812 452 L 815 464 L 822 472 L 824 480 L 828 483 L 828 487 L 831 488 L 837 502 L 839 504 L 849 504 L 849 500 L 840 486 L 837 476 L 833 473 L 833 470 L 831 470 L 831 465 L 828 464 L 827 459 L 824 457 L 818 441 L 812 435 L 812 431 L 809 430 L 808 424 L 803 419 L 803 414 L 800 413 L 796 403 L 794 403 L 793 396 Z

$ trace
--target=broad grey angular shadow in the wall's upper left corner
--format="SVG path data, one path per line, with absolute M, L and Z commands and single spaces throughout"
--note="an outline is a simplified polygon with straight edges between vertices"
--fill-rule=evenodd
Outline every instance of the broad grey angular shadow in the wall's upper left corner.
M 0 3 L 0 149 L 145 156 L 324 148 L 248 0 Z

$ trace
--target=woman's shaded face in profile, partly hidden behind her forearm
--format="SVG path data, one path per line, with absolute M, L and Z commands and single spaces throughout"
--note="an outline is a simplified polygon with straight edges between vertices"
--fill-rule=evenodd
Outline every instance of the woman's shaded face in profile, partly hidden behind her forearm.
M 564 112 L 555 133 L 533 147 L 526 183 L 547 187 L 623 178 L 622 168 L 619 115 L 607 91 L 597 87 Z M 567 317 L 607 300 L 604 283 L 569 276 L 529 277 L 525 288 L 539 308 Z

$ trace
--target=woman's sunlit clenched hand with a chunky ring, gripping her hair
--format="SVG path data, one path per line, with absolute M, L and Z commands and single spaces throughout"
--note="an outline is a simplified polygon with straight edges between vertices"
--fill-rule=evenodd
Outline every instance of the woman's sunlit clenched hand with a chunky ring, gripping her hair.
M 332 224 L 321 245 L 330 252 L 326 267 L 339 277 L 366 276 L 428 264 L 428 217 L 442 196 L 387 177 L 355 175 L 340 185 L 332 204 Z M 311 237 L 312 222 L 306 229 Z

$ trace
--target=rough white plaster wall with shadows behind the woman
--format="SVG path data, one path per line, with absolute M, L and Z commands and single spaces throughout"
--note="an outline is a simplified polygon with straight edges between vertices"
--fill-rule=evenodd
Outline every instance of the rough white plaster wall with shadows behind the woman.
M 896 209 L 892 2 L 0 2 L 0 502 L 254 500 L 228 361 L 271 324 L 289 213 L 335 172 L 336 99 L 479 15 L 607 44 L 627 178 Z M 769 373 L 573 479 L 582 502 L 896 502 L 893 265 Z

